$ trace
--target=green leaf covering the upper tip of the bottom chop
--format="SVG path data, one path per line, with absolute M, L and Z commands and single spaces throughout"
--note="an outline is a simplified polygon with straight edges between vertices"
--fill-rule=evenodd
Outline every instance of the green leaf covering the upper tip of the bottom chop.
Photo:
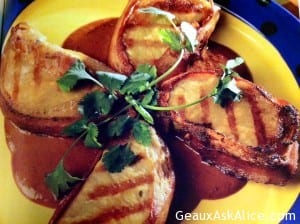
M 142 121 L 135 122 L 133 125 L 133 136 L 138 143 L 144 146 L 151 145 L 152 137 L 147 123 Z

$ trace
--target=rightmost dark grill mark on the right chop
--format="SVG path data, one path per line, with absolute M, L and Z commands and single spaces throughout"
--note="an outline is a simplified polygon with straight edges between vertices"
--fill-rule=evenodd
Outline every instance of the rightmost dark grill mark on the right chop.
M 266 128 L 265 128 L 264 122 L 262 120 L 261 110 L 258 107 L 255 97 L 253 97 L 252 95 L 249 94 L 247 99 L 248 99 L 248 102 L 249 102 L 250 108 L 251 108 L 257 143 L 258 143 L 258 145 L 262 145 L 262 144 L 264 144 L 265 139 L 266 139 Z

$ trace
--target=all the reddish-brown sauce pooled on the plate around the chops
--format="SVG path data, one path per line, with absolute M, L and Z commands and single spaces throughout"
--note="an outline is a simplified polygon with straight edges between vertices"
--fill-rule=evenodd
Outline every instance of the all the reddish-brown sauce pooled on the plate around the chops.
M 110 39 L 117 19 L 105 19 L 87 24 L 72 33 L 63 47 L 81 51 L 100 61 L 107 62 Z M 210 43 L 208 58 L 227 60 L 237 55 L 217 43 Z M 209 63 L 207 61 L 203 62 Z M 210 65 L 209 65 L 210 66 Z M 240 68 L 244 77 L 251 79 L 246 66 Z M 55 168 L 73 139 L 40 136 L 22 131 L 10 121 L 5 122 L 6 138 L 12 153 L 12 169 L 15 181 L 22 193 L 39 204 L 55 207 L 57 201 L 46 187 L 45 175 Z M 201 199 L 217 199 L 229 196 L 245 185 L 245 181 L 224 175 L 214 167 L 201 162 L 201 157 L 178 138 L 166 139 L 169 143 L 176 173 L 175 197 L 170 210 L 191 211 Z M 99 151 L 78 144 L 65 160 L 66 169 L 79 177 L 92 169 Z M 174 220 L 173 220 L 174 221 Z

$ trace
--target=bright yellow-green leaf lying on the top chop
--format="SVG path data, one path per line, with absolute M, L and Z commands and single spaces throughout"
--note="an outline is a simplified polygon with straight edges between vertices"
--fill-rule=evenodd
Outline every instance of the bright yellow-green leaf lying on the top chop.
M 180 34 L 168 29 L 161 29 L 159 31 L 162 41 L 169 45 L 169 47 L 174 51 L 181 51 L 184 48 Z

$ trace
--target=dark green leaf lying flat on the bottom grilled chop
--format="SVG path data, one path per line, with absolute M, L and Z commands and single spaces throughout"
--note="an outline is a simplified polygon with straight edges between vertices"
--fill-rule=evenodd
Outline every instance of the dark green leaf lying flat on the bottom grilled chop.
M 104 153 L 102 161 L 104 167 L 111 173 L 119 173 L 126 166 L 130 165 L 136 158 L 129 145 L 111 147 Z

